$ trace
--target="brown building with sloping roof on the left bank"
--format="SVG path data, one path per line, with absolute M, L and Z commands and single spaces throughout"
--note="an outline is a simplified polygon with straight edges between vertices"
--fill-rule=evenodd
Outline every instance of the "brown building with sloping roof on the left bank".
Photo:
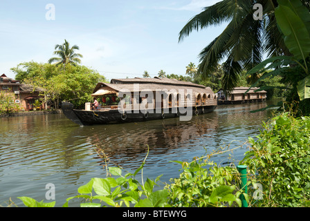
M 32 111 L 35 107 L 36 99 L 42 99 L 44 96 L 40 95 L 44 91 L 44 88 L 33 88 L 29 84 L 21 84 L 19 81 L 6 77 L 6 75 L 0 76 L 0 92 L 15 94 L 15 103 L 18 103 L 25 111 Z M 44 103 L 40 106 L 44 109 Z

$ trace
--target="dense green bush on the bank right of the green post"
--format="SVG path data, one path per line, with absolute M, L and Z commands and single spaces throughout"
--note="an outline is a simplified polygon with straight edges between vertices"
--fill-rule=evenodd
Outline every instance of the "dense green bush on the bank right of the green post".
M 250 180 L 262 184 L 263 198 L 255 206 L 304 206 L 310 199 L 310 118 L 289 112 L 263 124 L 242 164 Z

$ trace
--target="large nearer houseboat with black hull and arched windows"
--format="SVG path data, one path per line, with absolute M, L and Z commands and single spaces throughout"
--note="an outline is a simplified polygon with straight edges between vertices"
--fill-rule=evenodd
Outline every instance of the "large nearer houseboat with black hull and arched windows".
M 170 117 L 190 120 L 192 115 L 210 113 L 217 107 L 217 96 L 210 87 L 159 77 L 100 82 L 92 96 L 100 103 L 97 108 L 87 102 L 84 110 L 77 110 L 73 104 L 63 102 L 64 115 L 86 126 Z

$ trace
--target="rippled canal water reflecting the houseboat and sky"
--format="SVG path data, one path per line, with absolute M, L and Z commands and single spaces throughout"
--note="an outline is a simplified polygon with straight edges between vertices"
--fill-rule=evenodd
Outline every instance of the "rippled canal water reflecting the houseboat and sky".
M 9 199 L 24 206 L 17 197 L 56 201 L 78 195 L 78 187 L 92 177 L 107 177 L 104 160 L 94 148 L 102 148 L 109 166 L 121 166 L 123 174 L 133 172 L 149 155 L 143 177 L 169 183 L 179 176 L 181 166 L 173 160 L 192 161 L 220 148 L 237 148 L 216 155 L 225 165 L 243 158 L 247 137 L 255 137 L 262 121 L 273 110 L 250 113 L 268 102 L 218 106 L 188 122 L 179 118 L 129 124 L 78 126 L 63 114 L 0 118 L 0 206 Z M 139 180 L 139 175 L 136 177 Z M 55 200 L 46 200 L 46 184 L 55 185 Z M 164 186 L 164 184 L 163 184 Z M 69 206 L 79 206 L 78 200 Z

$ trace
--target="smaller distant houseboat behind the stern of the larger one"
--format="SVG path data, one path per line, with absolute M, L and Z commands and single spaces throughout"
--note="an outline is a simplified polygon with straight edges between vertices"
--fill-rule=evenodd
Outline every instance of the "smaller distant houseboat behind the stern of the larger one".
M 256 103 L 266 101 L 266 90 L 258 90 L 259 88 L 237 87 L 233 91 L 226 95 L 223 89 L 217 92 L 217 104 L 244 104 L 244 103 Z M 246 93 L 246 91 L 248 92 Z

